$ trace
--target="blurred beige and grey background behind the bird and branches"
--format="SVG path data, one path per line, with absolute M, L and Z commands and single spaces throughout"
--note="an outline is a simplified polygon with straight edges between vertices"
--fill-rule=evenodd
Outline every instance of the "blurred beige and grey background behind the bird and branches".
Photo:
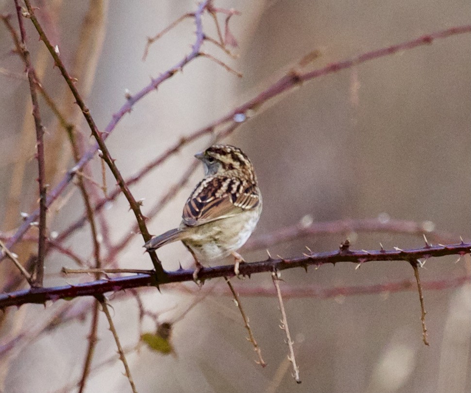
M 185 20 L 153 44 L 145 62 L 147 37 L 179 16 L 195 10 L 193 1 L 36 1 L 38 16 L 57 43 L 67 66 L 73 67 L 78 88 L 98 126 L 103 129 L 125 102 L 126 89 L 135 94 L 191 51 L 194 23 Z M 368 1 L 227 1 L 214 5 L 235 8 L 240 16 L 229 26 L 238 41 L 232 60 L 221 49 L 204 50 L 241 72 L 239 79 L 207 58 L 186 66 L 158 91 L 139 101 L 107 139 L 111 154 L 125 177 L 136 173 L 182 136 L 230 113 L 237 105 L 266 89 L 313 50 L 320 57 L 303 71 L 469 23 L 471 3 L 464 0 L 411 3 Z M 13 13 L 12 1 L 0 1 L 2 13 Z M 223 25 L 224 16 L 219 16 Z M 88 23 L 85 24 L 84 21 Z M 17 26 L 17 21 L 12 18 Z M 26 20 L 28 49 L 41 80 L 68 119 L 89 131 L 77 113 L 49 54 Z M 81 36 L 84 29 L 88 37 Z M 204 29 L 216 38 L 212 19 Z M 82 43 L 82 47 L 80 44 Z M 83 44 L 84 43 L 84 44 Z M 1 232 L 15 229 L 20 212 L 37 202 L 34 124 L 29 88 L 20 59 L 11 53 L 11 36 L 0 27 L 0 204 Z M 330 74 L 285 93 L 253 112 L 227 143 L 241 147 L 256 168 L 264 211 L 253 236 L 295 225 L 304 217 L 314 222 L 380 217 L 430 221 L 430 226 L 469 239 L 471 178 L 471 35 L 461 34 Z M 41 101 L 47 128 L 48 182 L 62 179 L 73 163 L 64 132 Z M 24 131 L 23 131 L 24 130 Z M 193 154 L 212 143 L 207 136 L 191 143 L 167 163 L 132 187 L 144 198 L 143 212 L 163 197 L 184 174 Z M 98 158 L 90 164 L 101 182 Z M 113 189 L 115 181 L 107 174 Z M 179 225 L 188 194 L 202 177 L 202 168 L 185 188 L 149 222 L 152 234 Z M 18 180 L 19 179 L 19 180 Z M 49 210 L 50 233 L 66 229 L 84 212 L 76 187 L 69 187 Z M 101 192 L 99 189 L 97 189 Z M 101 194 L 102 195 L 102 194 Z M 135 219 L 120 196 L 104 213 L 111 244 L 119 242 Z M 307 216 L 307 217 L 306 217 Z M 348 237 L 355 249 L 419 247 L 423 239 L 388 233 L 338 233 L 308 237 L 269 247 L 272 255 L 300 256 L 304 246 L 313 251 L 335 250 Z M 142 238 L 134 235 L 115 255 L 121 267 L 150 269 L 142 253 Z M 67 239 L 67 247 L 90 258 L 88 226 Z M 103 247 L 106 251 L 106 247 Z M 14 249 L 22 260 L 34 245 Z M 103 252 L 104 255 L 107 252 Z M 244 252 L 247 261 L 266 257 L 265 250 Z M 183 245 L 159 250 L 168 270 L 191 267 Z M 429 260 L 421 269 L 423 281 L 469 272 L 469 259 Z M 16 272 L 2 262 L 2 285 Z M 58 253 L 46 261 L 46 284 L 90 279 L 63 278 L 62 266 L 77 267 Z M 10 270 L 8 270 L 10 269 Z M 355 270 L 353 264 L 321 266 L 283 272 L 283 288 L 387 283 L 413 278 L 405 262 L 372 262 Z M 224 289 L 224 282 L 207 282 Z M 239 286 L 271 288 L 269 274 L 235 281 Z M 192 283 L 185 286 L 195 291 Z M 172 287 L 142 291 L 145 307 L 158 313 L 159 322 L 173 322 L 185 313 L 198 292 Z M 425 291 L 430 347 L 421 340 L 417 292 L 337 296 L 329 299 L 291 298 L 285 307 L 295 341 L 303 383 L 296 385 L 286 362 L 285 336 L 279 325 L 274 297 L 243 297 L 254 335 L 268 366 L 254 363 L 255 353 L 228 296 L 200 299 L 174 324 L 174 355 L 141 347 L 128 355 L 139 392 L 469 392 L 471 287 Z M 124 347 L 139 339 L 139 309 L 134 298 L 110 296 L 113 318 Z M 198 296 L 197 296 L 198 297 Z M 201 297 L 201 296 L 200 296 Z M 82 304 L 84 300 L 74 300 Z M 82 302 L 82 303 L 81 303 Z M 80 378 L 89 333 L 90 313 L 34 336 L 38 327 L 66 302 L 27 305 L 2 317 L 1 345 L 25 333 L 0 357 L 2 392 L 56 392 Z M 155 325 L 145 318 L 143 329 Z M 101 313 L 99 342 L 92 368 L 116 352 Z M 3 348 L 4 350 L 4 348 Z M 85 392 L 128 392 L 123 366 L 115 361 L 90 377 Z M 62 391 L 75 392 L 76 388 Z

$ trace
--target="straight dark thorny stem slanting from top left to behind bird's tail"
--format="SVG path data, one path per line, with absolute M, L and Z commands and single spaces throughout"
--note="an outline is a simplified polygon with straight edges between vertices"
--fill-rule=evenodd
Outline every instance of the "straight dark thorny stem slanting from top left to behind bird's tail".
M 17 1 L 17 0 L 16 0 Z M 131 191 L 129 190 L 128 185 L 125 183 L 124 178 L 121 175 L 121 172 L 119 171 L 118 167 L 115 164 L 115 160 L 111 157 L 111 154 L 108 150 L 108 147 L 104 143 L 104 138 L 102 137 L 103 132 L 99 131 L 96 124 L 95 120 L 93 119 L 92 115 L 90 114 L 89 109 L 86 107 L 84 100 L 80 96 L 77 88 L 75 87 L 75 84 L 70 77 L 70 75 L 67 72 L 66 67 L 64 66 L 64 63 L 62 62 L 61 58 L 59 57 L 59 54 L 57 51 L 54 49 L 52 44 L 50 43 L 48 37 L 44 33 L 44 30 L 42 29 L 41 25 L 39 24 L 37 18 L 34 16 L 34 10 L 31 6 L 30 0 L 25 0 L 26 7 L 28 9 L 29 13 L 29 18 L 34 24 L 34 27 L 36 28 L 41 40 L 44 42 L 46 47 L 48 48 L 52 58 L 54 59 L 54 64 L 59 68 L 61 71 L 62 76 L 64 77 L 65 81 L 67 82 L 67 85 L 70 88 L 70 91 L 72 92 L 75 101 L 77 105 L 80 107 L 82 110 L 82 113 L 84 114 L 85 120 L 87 121 L 87 124 L 92 131 L 92 135 L 95 137 L 98 146 L 100 147 L 101 150 L 101 157 L 103 160 L 108 164 L 109 168 L 111 169 L 111 172 L 113 173 L 113 176 L 115 179 L 118 181 L 118 185 L 121 188 L 123 194 L 127 198 L 131 209 L 133 210 L 136 220 L 139 225 L 139 229 L 141 231 L 142 237 L 144 239 L 144 242 L 147 242 L 151 239 L 151 235 L 149 233 L 149 230 L 147 229 L 146 223 L 145 223 L 145 217 L 141 213 L 140 209 L 140 204 L 135 200 L 134 196 L 131 194 Z M 164 269 L 162 268 L 162 265 L 157 257 L 157 254 L 155 252 L 150 253 L 152 263 L 154 265 L 155 269 L 155 274 L 158 277 L 165 276 Z

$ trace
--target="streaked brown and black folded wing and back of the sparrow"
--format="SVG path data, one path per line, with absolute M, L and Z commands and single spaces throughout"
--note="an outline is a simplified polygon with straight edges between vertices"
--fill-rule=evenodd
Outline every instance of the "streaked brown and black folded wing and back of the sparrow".
M 190 227 L 255 208 L 260 203 L 258 187 L 227 177 L 203 179 L 185 203 L 183 221 Z

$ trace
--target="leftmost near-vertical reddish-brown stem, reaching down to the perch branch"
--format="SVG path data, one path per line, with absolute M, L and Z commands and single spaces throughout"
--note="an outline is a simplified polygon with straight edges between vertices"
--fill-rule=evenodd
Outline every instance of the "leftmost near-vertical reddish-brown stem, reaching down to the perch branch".
M 23 17 L 21 15 L 21 6 L 18 0 L 15 0 L 17 10 L 19 32 L 21 36 L 21 50 L 26 63 L 26 72 L 28 74 L 28 82 L 30 85 L 31 101 L 33 104 L 34 126 L 36 129 L 36 158 L 38 163 L 38 184 L 39 184 L 39 239 L 38 253 L 36 261 L 36 278 L 34 286 L 42 287 L 44 279 L 44 256 L 46 253 L 46 169 L 44 164 L 44 128 L 41 123 L 41 115 L 39 113 L 39 104 L 36 94 L 36 81 L 34 78 L 34 70 L 31 65 L 30 53 L 26 49 L 26 31 L 23 25 Z

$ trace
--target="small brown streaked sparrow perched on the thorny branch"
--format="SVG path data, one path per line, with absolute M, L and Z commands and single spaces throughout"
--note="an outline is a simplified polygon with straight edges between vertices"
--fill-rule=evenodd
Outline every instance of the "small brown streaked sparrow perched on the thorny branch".
M 149 240 L 144 247 L 154 251 L 178 240 L 193 255 L 195 280 L 202 265 L 232 254 L 235 274 L 243 258 L 235 252 L 255 229 L 262 213 L 262 195 L 249 158 L 238 147 L 214 145 L 195 155 L 204 165 L 205 176 L 183 209 L 179 228 Z

